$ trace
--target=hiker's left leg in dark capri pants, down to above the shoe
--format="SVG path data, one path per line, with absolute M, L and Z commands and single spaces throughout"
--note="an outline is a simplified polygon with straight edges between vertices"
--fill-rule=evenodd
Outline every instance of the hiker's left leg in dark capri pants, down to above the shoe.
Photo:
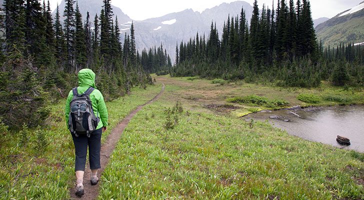
M 86 155 L 87 155 L 87 137 L 85 135 L 79 135 L 76 137 L 72 134 L 72 139 L 74 143 L 74 171 L 76 174 L 77 187 L 83 186 L 83 174 L 86 165 Z

